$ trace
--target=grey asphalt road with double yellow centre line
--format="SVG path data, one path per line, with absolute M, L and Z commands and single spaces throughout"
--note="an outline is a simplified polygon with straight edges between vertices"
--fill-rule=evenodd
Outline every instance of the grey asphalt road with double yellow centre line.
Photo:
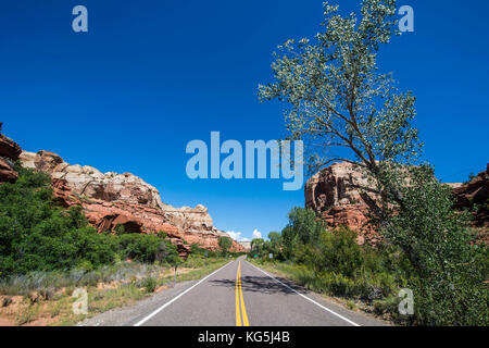
M 350 311 L 269 275 L 231 261 L 197 282 L 178 284 L 134 307 L 102 313 L 82 325 L 102 326 L 378 326 L 385 322 Z

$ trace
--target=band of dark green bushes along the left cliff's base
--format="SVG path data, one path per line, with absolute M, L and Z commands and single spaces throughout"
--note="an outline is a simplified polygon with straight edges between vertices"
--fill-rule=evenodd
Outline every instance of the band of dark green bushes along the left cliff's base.
M 64 210 L 49 178 L 21 166 L 15 184 L 0 186 L 0 277 L 32 271 L 92 271 L 120 259 L 174 262 L 176 247 L 163 235 L 98 234 L 80 207 Z

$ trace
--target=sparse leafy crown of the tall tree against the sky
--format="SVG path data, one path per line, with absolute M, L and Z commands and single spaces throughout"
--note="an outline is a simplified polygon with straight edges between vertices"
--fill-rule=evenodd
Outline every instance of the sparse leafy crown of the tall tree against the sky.
M 414 96 L 400 92 L 391 74 L 377 67 L 379 46 L 399 34 L 396 0 L 362 1 L 360 18 L 341 16 L 327 2 L 324 9 L 324 30 L 314 39 L 278 47 L 275 82 L 260 85 L 259 95 L 289 105 L 287 129 L 290 138 L 304 140 L 310 172 L 339 160 L 362 169 L 372 184 L 359 188 L 385 220 L 389 202 L 402 204 L 399 187 L 409 171 L 402 165 L 418 163 L 422 148 L 411 125 Z

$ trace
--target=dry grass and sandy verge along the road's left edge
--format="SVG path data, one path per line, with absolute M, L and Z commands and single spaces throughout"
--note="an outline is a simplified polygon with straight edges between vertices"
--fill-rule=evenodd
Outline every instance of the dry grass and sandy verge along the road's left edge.
M 206 260 L 204 263 L 192 264 L 198 268 L 178 269 L 177 282 L 198 279 L 214 270 L 217 270 L 229 260 Z M 17 278 L 11 287 L 3 284 L 0 295 L 0 326 L 22 325 L 22 326 L 70 326 L 87 318 L 108 310 L 128 306 L 151 296 L 143 287 L 143 281 L 148 276 L 156 281 L 155 293 L 163 291 L 173 286 L 174 271 L 170 268 L 158 268 L 149 265 L 134 266 L 135 272 L 126 272 L 122 276 L 120 271 L 115 271 L 116 276 L 106 276 L 106 282 L 92 282 L 86 286 L 79 286 L 72 281 L 58 277 L 58 286 L 52 286 L 49 294 L 33 290 L 42 288 L 40 278 L 46 281 L 49 276 L 37 276 L 36 282 L 30 277 L 26 286 Z M 142 271 L 145 269 L 145 271 Z M 91 275 L 89 277 L 92 277 Z M 26 276 L 25 279 L 28 277 Z M 35 287 L 36 285 L 37 287 Z M 46 284 L 45 284 L 46 285 Z M 88 294 L 88 314 L 74 314 L 73 304 L 76 301 L 72 297 L 77 287 L 83 287 Z M 2 307 L 2 303 L 9 303 Z

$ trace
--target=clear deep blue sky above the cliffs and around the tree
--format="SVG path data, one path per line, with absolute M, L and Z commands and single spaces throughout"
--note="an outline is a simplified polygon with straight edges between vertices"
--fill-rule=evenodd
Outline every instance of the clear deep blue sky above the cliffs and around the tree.
M 338 0 L 344 12 L 359 1 Z M 191 181 L 185 147 L 208 140 L 285 135 L 283 107 L 261 104 L 272 51 L 312 37 L 322 0 L 2 1 L 0 121 L 23 149 L 70 163 L 130 172 L 173 206 L 209 207 L 214 223 L 250 237 L 287 223 L 303 191 L 281 181 Z M 89 11 L 89 33 L 72 30 L 72 9 Z M 486 167 L 489 28 L 486 0 L 405 0 L 415 33 L 380 51 L 380 69 L 417 97 L 426 159 L 444 182 Z

